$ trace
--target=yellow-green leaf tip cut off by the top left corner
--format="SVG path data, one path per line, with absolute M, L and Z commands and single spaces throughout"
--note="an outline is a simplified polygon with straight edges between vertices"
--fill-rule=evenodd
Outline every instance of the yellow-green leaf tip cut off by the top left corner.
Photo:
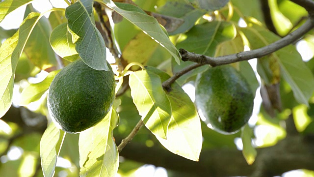
M 3 0 L 0 2 L 0 22 L 4 17 L 18 7 L 30 3 L 32 0 Z

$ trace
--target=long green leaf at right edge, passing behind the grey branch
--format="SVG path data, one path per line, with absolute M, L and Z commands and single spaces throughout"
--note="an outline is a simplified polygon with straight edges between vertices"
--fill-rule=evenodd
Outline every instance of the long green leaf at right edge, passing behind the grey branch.
M 279 36 L 257 25 L 242 31 L 249 40 L 251 49 L 258 49 L 280 39 Z M 309 105 L 308 100 L 314 91 L 314 76 L 296 48 L 288 45 L 266 57 L 274 58 L 279 62 L 281 74 L 290 85 L 295 99 L 299 103 Z

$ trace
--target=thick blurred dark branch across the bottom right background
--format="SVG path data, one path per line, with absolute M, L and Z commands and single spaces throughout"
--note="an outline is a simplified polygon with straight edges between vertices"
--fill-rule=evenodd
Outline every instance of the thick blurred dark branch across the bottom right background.
M 148 148 L 136 143 L 124 148 L 120 155 L 137 162 L 190 173 L 193 177 L 271 177 L 296 169 L 314 170 L 313 141 L 313 138 L 309 141 L 297 135 L 287 137 L 273 147 L 258 148 L 259 155 L 253 165 L 246 163 L 240 150 L 226 148 L 202 149 L 199 162 L 185 159 L 158 146 Z

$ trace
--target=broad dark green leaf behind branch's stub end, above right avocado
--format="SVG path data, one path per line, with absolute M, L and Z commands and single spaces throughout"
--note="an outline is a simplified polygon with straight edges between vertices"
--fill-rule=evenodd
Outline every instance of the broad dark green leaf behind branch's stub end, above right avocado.
M 217 46 L 221 42 L 235 38 L 235 36 L 235 26 L 231 23 L 210 22 L 194 26 L 186 32 L 185 35 L 182 35 L 182 37 L 179 38 L 179 42 L 176 47 L 178 49 L 182 48 L 196 54 L 214 57 Z M 185 61 L 182 62 L 181 65 L 172 62 L 172 71 L 173 73 L 176 73 L 191 64 L 194 64 L 194 62 Z M 177 82 L 182 85 L 188 78 L 203 72 L 208 67 L 208 65 L 205 65 L 198 67 L 197 69 L 193 69 L 180 77 Z

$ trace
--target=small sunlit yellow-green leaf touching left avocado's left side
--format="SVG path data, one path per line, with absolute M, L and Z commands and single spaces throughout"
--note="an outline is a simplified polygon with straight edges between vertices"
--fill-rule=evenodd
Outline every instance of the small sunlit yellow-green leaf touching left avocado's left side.
M 30 84 L 21 93 L 21 102 L 20 106 L 27 106 L 33 101 L 37 101 L 41 96 L 49 89 L 49 86 L 54 78 L 54 76 L 60 70 L 55 70 L 49 73 L 49 75 L 40 83 Z

